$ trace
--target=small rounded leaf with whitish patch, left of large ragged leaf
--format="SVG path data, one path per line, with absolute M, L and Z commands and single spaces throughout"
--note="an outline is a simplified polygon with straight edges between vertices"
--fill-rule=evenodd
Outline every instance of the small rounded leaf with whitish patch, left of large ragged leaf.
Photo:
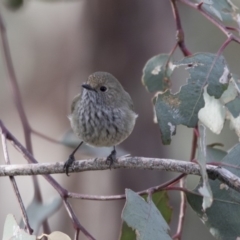
M 149 92 L 165 91 L 169 87 L 174 65 L 168 54 L 160 54 L 148 60 L 143 68 L 142 83 Z M 169 61 L 169 62 L 168 62 Z

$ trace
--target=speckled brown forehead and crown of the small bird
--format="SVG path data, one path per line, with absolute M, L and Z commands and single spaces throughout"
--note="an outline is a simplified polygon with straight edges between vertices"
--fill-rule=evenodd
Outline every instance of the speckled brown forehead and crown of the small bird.
M 88 77 L 87 83 L 92 87 L 97 87 L 98 85 L 111 84 L 112 82 L 116 82 L 116 80 L 110 73 L 95 72 Z

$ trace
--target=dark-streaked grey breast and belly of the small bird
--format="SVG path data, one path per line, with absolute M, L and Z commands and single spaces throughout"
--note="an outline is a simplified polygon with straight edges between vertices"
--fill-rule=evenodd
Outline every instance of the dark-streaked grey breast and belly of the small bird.
M 130 109 L 103 107 L 92 101 L 82 102 L 75 111 L 70 119 L 73 131 L 93 146 L 119 144 L 130 135 L 136 119 Z

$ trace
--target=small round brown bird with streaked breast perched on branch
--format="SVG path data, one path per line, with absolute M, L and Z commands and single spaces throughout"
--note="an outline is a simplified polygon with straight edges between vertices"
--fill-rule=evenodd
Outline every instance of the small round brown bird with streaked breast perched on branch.
M 131 134 L 136 118 L 130 95 L 112 74 L 96 72 L 90 75 L 71 106 L 71 127 L 82 141 L 64 164 L 66 174 L 83 142 L 96 147 L 113 146 L 107 157 L 111 167 L 116 160 L 115 146 Z

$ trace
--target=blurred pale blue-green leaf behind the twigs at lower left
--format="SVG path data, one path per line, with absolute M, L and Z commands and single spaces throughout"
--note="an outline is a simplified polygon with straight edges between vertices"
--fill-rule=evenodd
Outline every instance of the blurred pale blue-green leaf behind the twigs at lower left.
M 56 197 L 45 204 L 33 198 L 26 211 L 34 233 L 38 232 L 42 223 L 52 216 L 60 208 L 61 204 L 62 199 L 60 197 Z M 23 220 L 21 220 L 20 226 L 23 226 Z

